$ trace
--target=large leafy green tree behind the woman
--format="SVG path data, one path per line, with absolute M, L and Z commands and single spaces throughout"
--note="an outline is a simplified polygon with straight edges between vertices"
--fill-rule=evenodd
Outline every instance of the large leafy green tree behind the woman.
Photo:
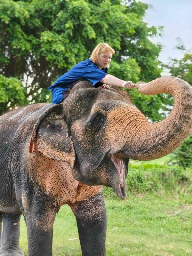
M 31 102 L 46 101 L 46 88 L 58 76 L 106 42 L 116 51 L 111 74 L 151 81 L 162 69 L 161 46 L 150 41 L 160 29 L 143 21 L 148 8 L 135 0 L 0 0 L 0 71 L 19 79 Z M 158 110 L 167 110 L 169 98 L 158 95 L 149 103 L 148 96 L 130 92 L 150 119 L 163 118 Z

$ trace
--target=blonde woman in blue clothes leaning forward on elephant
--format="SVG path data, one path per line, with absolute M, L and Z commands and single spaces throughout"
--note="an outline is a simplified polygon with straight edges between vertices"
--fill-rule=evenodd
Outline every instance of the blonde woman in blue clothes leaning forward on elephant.
M 94 87 L 102 86 L 105 89 L 109 89 L 110 86 L 124 87 L 125 89 L 133 88 L 134 84 L 131 81 L 124 81 L 108 75 L 109 63 L 114 53 L 115 51 L 110 45 L 98 44 L 89 59 L 79 62 L 48 88 L 48 90 L 52 90 L 52 104 L 61 103 L 72 84 L 82 78 L 89 80 Z

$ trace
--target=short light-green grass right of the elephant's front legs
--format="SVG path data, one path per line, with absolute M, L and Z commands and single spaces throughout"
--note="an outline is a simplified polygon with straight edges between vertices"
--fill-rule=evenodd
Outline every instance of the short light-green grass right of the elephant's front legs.
M 153 196 L 107 206 L 107 255 L 192 255 L 190 206 Z

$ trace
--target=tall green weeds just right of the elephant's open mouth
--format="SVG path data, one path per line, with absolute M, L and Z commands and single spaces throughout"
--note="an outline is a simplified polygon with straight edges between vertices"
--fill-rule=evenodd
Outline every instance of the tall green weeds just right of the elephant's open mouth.
M 187 191 L 191 187 L 191 181 L 189 173 L 180 167 L 143 164 L 139 169 L 131 168 L 127 179 L 127 192 L 176 194 L 181 190 Z

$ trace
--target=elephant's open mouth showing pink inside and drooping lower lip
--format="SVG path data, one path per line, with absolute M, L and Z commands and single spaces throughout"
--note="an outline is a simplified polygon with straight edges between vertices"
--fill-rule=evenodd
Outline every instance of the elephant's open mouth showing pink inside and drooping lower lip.
M 124 162 L 122 158 L 119 158 L 117 155 L 111 156 L 110 159 L 116 167 L 118 178 L 119 178 L 118 182 L 115 182 L 112 185 L 112 188 L 117 196 L 119 196 L 121 199 L 125 199 L 126 192 L 125 192 Z

